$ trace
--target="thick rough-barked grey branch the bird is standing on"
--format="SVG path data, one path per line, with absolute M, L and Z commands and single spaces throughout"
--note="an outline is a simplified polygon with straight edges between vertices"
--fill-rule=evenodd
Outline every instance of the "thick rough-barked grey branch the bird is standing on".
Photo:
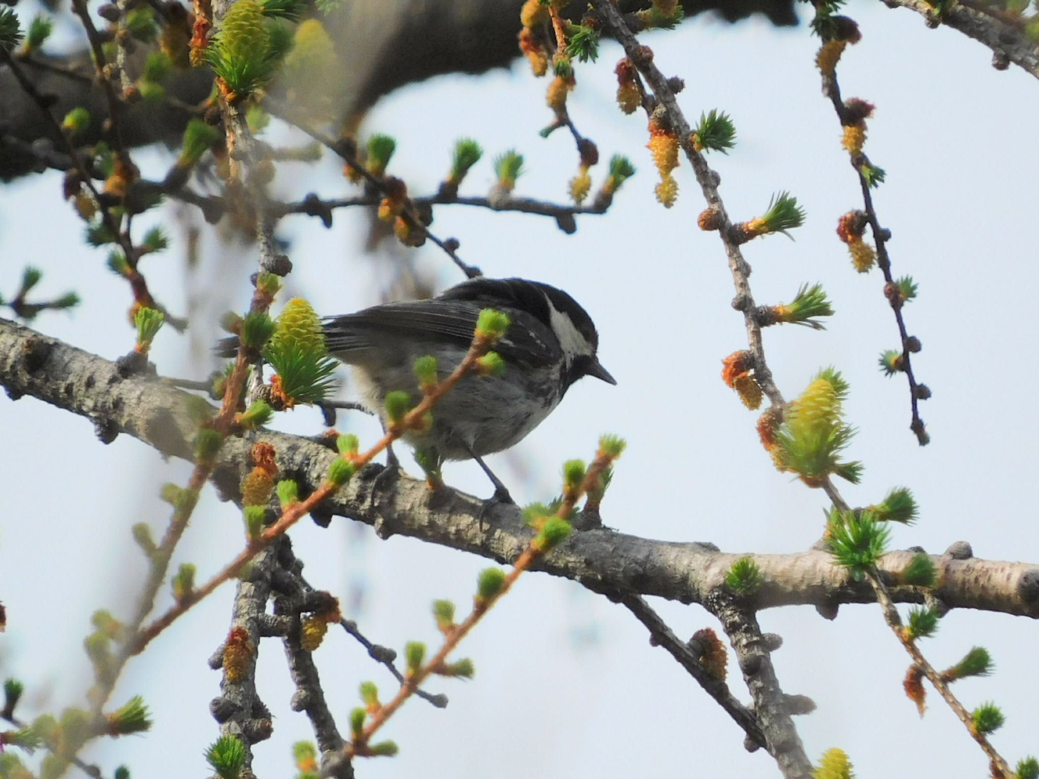
M 180 458 L 191 457 L 193 428 L 183 410 L 186 395 L 154 378 L 123 377 L 115 362 L 0 319 L 0 384 L 8 395 L 29 395 L 91 420 L 100 433 L 122 432 Z M 9 411 L 8 411 L 9 412 Z M 220 452 L 214 482 L 222 495 L 238 498 L 248 469 L 248 450 L 266 440 L 277 452 L 283 478 L 299 481 L 302 494 L 319 486 L 335 453 L 307 438 L 261 431 L 230 438 Z M 368 478 L 366 478 L 368 477 Z M 531 531 L 512 506 L 484 502 L 453 489 L 430 494 L 425 483 L 402 477 L 373 493 L 371 473 L 363 474 L 325 505 L 326 512 L 395 533 L 470 552 L 499 562 L 514 560 Z M 893 552 L 881 574 L 900 602 L 922 602 L 915 588 L 900 587 L 896 575 L 913 552 Z M 537 568 L 596 592 L 638 593 L 681 602 L 703 603 L 721 587 L 742 555 L 712 544 L 658 541 L 595 529 L 574 534 Z M 752 555 L 765 584 L 749 609 L 815 605 L 832 611 L 841 603 L 876 602 L 865 583 L 855 583 L 821 550 Z M 962 555 L 932 555 L 938 570 L 935 595 L 950 608 L 981 609 L 1039 617 L 1039 566 Z

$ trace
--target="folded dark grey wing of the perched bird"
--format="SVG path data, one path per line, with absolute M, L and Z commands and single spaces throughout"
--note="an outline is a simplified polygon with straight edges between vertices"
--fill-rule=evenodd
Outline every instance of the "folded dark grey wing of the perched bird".
M 383 303 L 324 322 L 328 351 L 349 361 L 351 352 L 384 350 L 414 344 L 416 349 L 445 343 L 460 348 L 473 341 L 482 306 L 465 300 L 408 300 Z M 512 324 L 495 347 L 506 360 L 535 367 L 561 356 L 552 331 L 522 311 L 507 311 Z

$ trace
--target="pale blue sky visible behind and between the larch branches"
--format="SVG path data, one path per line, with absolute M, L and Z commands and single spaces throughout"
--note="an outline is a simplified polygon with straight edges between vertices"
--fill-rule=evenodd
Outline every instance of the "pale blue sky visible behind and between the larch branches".
M 907 429 L 905 382 L 877 370 L 879 352 L 897 344 L 880 276 L 856 274 L 834 234 L 838 216 L 860 199 L 833 110 L 820 95 L 818 39 L 804 26 L 775 30 L 757 20 L 728 26 L 703 18 L 646 43 L 665 73 L 686 79 L 680 102 L 691 118 L 718 107 L 737 124 L 736 150 L 711 160 L 729 213 L 754 216 L 779 189 L 790 189 L 807 210 L 796 241 L 760 239 L 745 253 L 758 302 L 789 301 L 800 284 L 817 280 L 833 299 L 837 316 L 825 332 L 773 328 L 766 349 L 788 397 L 820 366 L 835 365 L 850 379 L 847 411 L 859 431 L 851 455 L 865 472 L 846 498 L 869 504 L 905 484 L 916 492 L 922 516 L 916 527 L 895 529 L 896 544 L 940 552 L 967 539 L 979 557 L 1037 561 L 1039 531 L 1027 485 L 1039 433 L 1028 401 L 1037 378 L 1031 225 L 1039 162 L 1029 138 L 1039 124 L 1039 85 L 1014 69 L 993 71 L 986 49 L 952 30 L 928 30 L 908 11 L 856 3 L 850 12 L 863 39 L 846 53 L 838 76 L 846 97 L 877 105 L 867 151 L 888 178 L 876 204 L 894 235 L 896 272 L 921 284 L 906 317 L 924 344 L 914 359 L 918 376 L 934 393 L 923 405 L 933 437 L 926 449 Z M 514 456 L 490 464 L 517 500 L 542 500 L 554 494 L 563 460 L 589 456 L 601 432 L 617 432 L 630 447 L 604 506 L 607 525 L 709 540 L 732 552 L 803 549 L 820 534 L 825 499 L 774 471 L 757 442 L 755 414 L 719 378 L 721 358 L 745 345 L 742 318 L 729 307 L 724 254 L 717 237 L 696 227 L 703 202 L 688 165 L 676 171 L 675 207 L 665 211 L 654 200 L 645 120 L 623 116 L 613 104 L 618 51 L 606 43 L 597 64 L 578 68 L 570 101 L 575 120 L 604 159 L 622 152 L 639 168 L 609 215 L 582 218 L 577 235 L 565 236 L 543 218 L 462 207 L 436 212 L 434 230 L 457 236 L 462 257 L 489 275 L 538 278 L 571 292 L 595 317 L 603 362 L 618 379 L 616 387 L 578 384 Z M 396 136 L 392 169 L 415 192 L 435 187 L 454 138 L 468 135 L 488 156 L 511 146 L 526 155 L 521 194 L 562 199 L 576 160 L 568 137 L 537 136 L 550 118 L 545 85 L 523 62 L 509 72 L 436 79 L 383 101 L 366 130 Z M 167 164 L 160 153 L 140 158 L 155 170 Z M 594 170 L 596 183 L 603 167 Z M 298 181 L 286 177 L 284 190 L 348 193 L 337 168 L 334 161 L 297 167 Z M 484 161 L 462 191 L 481 193 L 491 183 Z M 78 290 L 84 302 L 75 316 L 45 315 L 35 326 L 113 358 L 132 345 L 128 291 L 104 269 L 104 253 L 82 245 L 59 185 L 59 176 L 48 174 L 0 190 L 0 284 L 6 291 L 31 262 L 47 271 L 41 294 Z M 171 211 L 161 218 L 179 238 Z M 325 314 L 373 302 L 371 278 L 387 260 L 362 254 L 364 231 L 359 213 L 338 213 L 331 231 L 305 217 L 286 221 L 293 291 Z M 460 280 L 435 247 L 420 250 L 420 261 L 443 286 Z M 205 298 L 207 312 L 240 310 L 255 262 L 250 248 L 207 240 L 189 287 Z M 183 266 L 179 240 L 144 265 L 175 312 L 186 308 Z M 154 356 L 161 373 L 201 376 L 209 369 L 211 329 L 204 319 L 199 312 L 191 340 L 159 335 Z M 279 424 L 311 433 L 319 418 L 301 409 Z M 364 421 L 357 429 L 374 434 Z M 41 692 L 49 693 L 51 708 L 76 704 L 89 683 L 80 646 L 90 612 L 107 607 L 125 614 L 143 574 L 129 528 L 165 525 L 158 485 L 183 482 L 187 466 L 165 463 L 127 436 L 102 448 L 86 421 L 31 399 L 0 398 L 0 440 L 3 472 L 17 485 L 0 499 L 0 597 L 10 621 L 0 640 L 3 671 L 25 680 L 27 711 Z M 531 478 L 510 471 L 516 461 Z M 449 466 L 445 476 L 460 488 L 489 492 L 471 464 Z M 238 513 L 208 493 L 176 562 L 196 563 L 204 576 L 237 550 L 240 538 Z M 430 600 L 465 602 L 486 565 L 414 540 L 378 541 L 344 519 L 324 531 L 303 522 L 293 538 L 315 586 L 346 598 L 364 583 L 361 626 L 398 649 L 408 639 L 435 642 Z M 89 756 L 106 774 L 124 761 L 137 776 L 161 775 L 158 767 L 170 764 L 185 775 L 206 771 L 202 752 L 217 733 L 207 704 L 219 681 L 206 659 L 227 630 L 231 596 L 230 588 L 220 590 L 130 666 L 115 697 L 143 694 L 156 726 L 146 737 L 97 748 Z M 714 624 L 698 607 L 661 610 L 683 637 Z M 819 704 L 817 714 L 798 719 L 814 758 L 840 746 L 861 777 L 925 770 L 984 775 L 984 756 L 936 696 L 923 721 L 904 698 L 908 659 L 878 608 L 845 608 L 834 622 L 808 608 L 773 610 L 762 622 L 785 639 L 773 655 L 784 690 Z M 592 643 L 583 640 L 589 635 Z M 974 644 L 991 650 L 996 674 L 959 682 L 957 692 L 968 707 L 989 699 L 1004 706 L 1007 724 L 994 743 L 1012 762 L 1039 751 L 1035 641 L 1030 620 L 954 612 L 926 645 L 938 666 Z M 400 756 L 362 763 L 359 776 L 777 775 L 767 755 L 743 750 L 742 731 L 665 652 L 648 646 L 632 617 L 575 585 L 525 577 L 462 653 L 475 660 L 476 678 L 434 686 L 450 696 L 447 710 L 408 704 L 385 729 Z M 334 636 L 316 656 L 344 729 L 358 682 L 392 688 L 345 636 Z M 258 773 L 285 776 L 292 771 L 289 745 L 310 729 L 288 708 L 291 689 L 273 643 L 262 647 L 261 688 L 275 721 L 274 737 L 256 750 Z M 738 678 L 734 689 L 747 699 Z

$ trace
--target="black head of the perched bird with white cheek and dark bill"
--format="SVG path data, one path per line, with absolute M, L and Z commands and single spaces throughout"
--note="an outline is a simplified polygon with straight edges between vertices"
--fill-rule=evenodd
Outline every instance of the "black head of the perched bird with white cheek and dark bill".
M 560 289 L 524 278 L 472 278 L 447 290 L 443 297 L 475 300 L 487 305 L 518 308 L 548 326 L 563 352 L 567 386 L 583 376 L 616 384 L 598 361 L 598 332 L 581 304 Z

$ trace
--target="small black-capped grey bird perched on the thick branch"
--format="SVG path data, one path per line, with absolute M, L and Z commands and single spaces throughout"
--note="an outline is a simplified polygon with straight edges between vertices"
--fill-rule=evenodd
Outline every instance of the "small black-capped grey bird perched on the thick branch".
M 594 376 L 616 384 L 596 356 L 598 333 L 591 317 L 555 287 L 523 278 L 477 277 L 429 300 L 383 303 L 325 320 L 328 351 L 353 368 L 363 403 L 384 417 L 385 397 L 404 391 L 418 402 L 415 361 L 436 357 L 438 378 L 462 360 L 483 308 L 509 315 L 511 324 L 495 350 L 505 362 L 499 379 L 470 374 L 442 398 L 433 424 L 404 439 L 435 466 L 475 459 L 495 484 L 508 491 L 483 462 L 523 440 L 578 379 Z

